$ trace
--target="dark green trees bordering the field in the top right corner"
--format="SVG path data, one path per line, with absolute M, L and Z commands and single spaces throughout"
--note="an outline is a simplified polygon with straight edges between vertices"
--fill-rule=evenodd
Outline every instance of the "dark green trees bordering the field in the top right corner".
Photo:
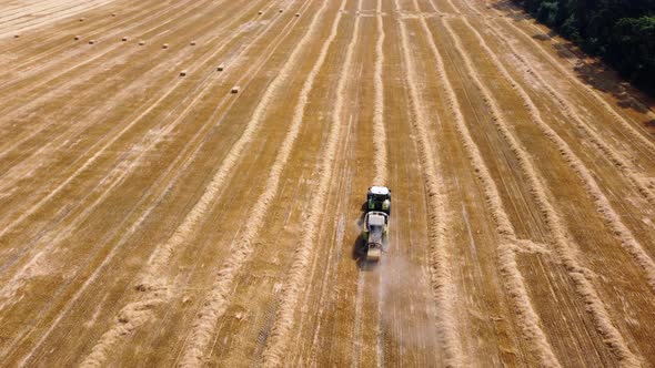
M 514 0 L 655 94 L 655 0 Z

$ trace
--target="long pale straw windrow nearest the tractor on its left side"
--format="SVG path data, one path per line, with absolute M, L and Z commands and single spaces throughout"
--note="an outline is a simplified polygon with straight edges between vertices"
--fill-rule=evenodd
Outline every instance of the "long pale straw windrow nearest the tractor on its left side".
M 357 0 L 357 9 L 361 9 L 361 4 L 362 0 Z M 284 354 L 286 345 L 289 344 L 288 335 L 293 325 L 293 311 L 295 310 L 299 294 L 301 293 L 303 288 L 302 285 L 306 278 L 312 249 L 316 241 L 314 234 L 318 233 L 316 229 L 320 226 L 319 221 L 323 216 L 322 209 L 325 203 L 325 193 L 328 193 L 332 180 L 332 168 L 336 159 L 335 154 L 343 125 L 342 114 L 344 113 L 345 102 L 343 96 L 345 95 L 347 75 L 353 68 L 353 55 L 359 40 L 359 31 L 360 17 L 356 17 L 353 38 L 347 45 L 343 71 L 339 76 L 336 101 L 332 112 L 332 126 L 330 127 L 330 134 L 328 136 L 325 146 L 325 157 L 318 170 L 319 188 L 313 196 L 313 206 L 309 216 L 306 231 L 303 233 L 302 239 L 300 241 L 301 245 L 295 252 L 293 264 L 289 270 L 289 279 L 286 280 L 286 285 L 284 285 L 281 293 L 281 305 L 275 314 L 273 330 L 263 352 L 264 366 L 280 366 L 282 362 L 282 355 Z

